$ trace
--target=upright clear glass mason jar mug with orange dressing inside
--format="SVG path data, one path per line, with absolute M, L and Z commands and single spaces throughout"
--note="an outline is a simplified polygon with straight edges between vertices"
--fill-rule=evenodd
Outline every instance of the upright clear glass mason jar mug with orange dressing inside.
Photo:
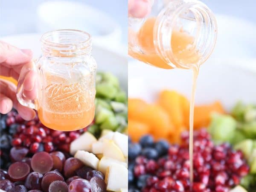
M 60 131 L 78 130 L 89 125 L 95 111 L 96 61 L 91 55 L 92 40 L 78 30 L 57 30 L 41 38 L 42 56 L 33 68 L 38 74 L 34 101 L 23 93 L 25 72 L 20 74 L 17 99 L 38 111 L 41 122 Z

